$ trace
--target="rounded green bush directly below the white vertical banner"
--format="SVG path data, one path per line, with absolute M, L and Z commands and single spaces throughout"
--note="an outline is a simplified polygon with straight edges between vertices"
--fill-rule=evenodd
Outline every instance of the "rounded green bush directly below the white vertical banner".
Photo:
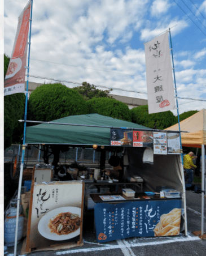
M 132 122 L 152 129 L 164 130 L 176 123 L 177 117 L 170 111 L 161 113 L 148 113 L 148 105 L 138 106 L 130 110 Z

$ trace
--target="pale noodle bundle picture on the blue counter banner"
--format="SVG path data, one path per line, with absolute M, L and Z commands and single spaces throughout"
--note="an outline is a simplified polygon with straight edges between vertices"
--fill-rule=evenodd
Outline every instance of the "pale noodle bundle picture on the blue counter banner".
M 179 234 L 181 221 L 181 209 L 174 208 L 168 214 L 163 214 L 160 217 L 160 222 L 157 223 L 154 233 L 155 236 L 177 236 Z

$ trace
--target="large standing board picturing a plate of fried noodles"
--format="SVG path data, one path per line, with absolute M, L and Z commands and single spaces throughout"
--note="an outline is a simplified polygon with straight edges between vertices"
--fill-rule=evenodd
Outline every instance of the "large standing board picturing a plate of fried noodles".
M 34 184 L 27 249 L 81 242 L 83 186 L 82 181 Z

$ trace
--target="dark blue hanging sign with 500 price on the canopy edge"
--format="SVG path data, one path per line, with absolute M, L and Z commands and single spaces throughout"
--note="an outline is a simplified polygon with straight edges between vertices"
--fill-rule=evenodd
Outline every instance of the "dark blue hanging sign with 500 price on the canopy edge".
M 130 129 L 111 129 L 110 145 L 132 147 L 133 131 Z

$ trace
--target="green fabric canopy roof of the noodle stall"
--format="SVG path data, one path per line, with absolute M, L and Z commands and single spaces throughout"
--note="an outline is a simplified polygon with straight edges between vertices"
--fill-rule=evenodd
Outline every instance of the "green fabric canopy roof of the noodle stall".
M 66 123 L 72 125 L 52 124 Z M 75 125 L 75 126 L 73 126 Z M 94 126 L 94 127 L 92 127 Z M 98 127 L 105 126 L 105 127 Z M 150 129 L 137 123 L 118 120 L 100 114 L 69 116 L 27 127 L 25 143 L 27 144 L 72 144 L 110 146 L 110 128 L 129 127 L 133 129 Z

